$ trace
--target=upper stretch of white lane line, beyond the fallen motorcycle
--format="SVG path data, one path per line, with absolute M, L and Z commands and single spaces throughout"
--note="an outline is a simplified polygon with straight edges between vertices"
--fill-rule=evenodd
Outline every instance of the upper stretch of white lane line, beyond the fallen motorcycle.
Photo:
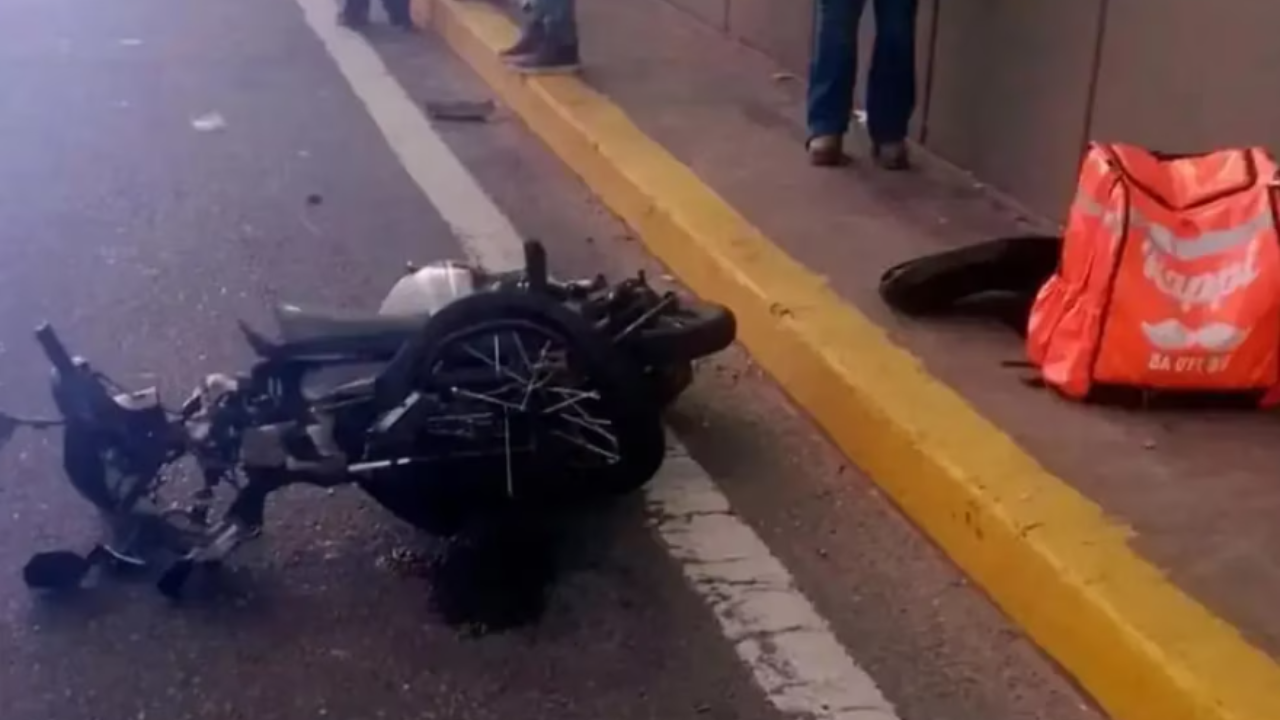
M 387 145 L 472 260 L 494 270 L 524 263 L 516 228 L 444 143 L 378 53 L 337 23 L 333 0 L 296 0 L 307 24 L 369 110 Z

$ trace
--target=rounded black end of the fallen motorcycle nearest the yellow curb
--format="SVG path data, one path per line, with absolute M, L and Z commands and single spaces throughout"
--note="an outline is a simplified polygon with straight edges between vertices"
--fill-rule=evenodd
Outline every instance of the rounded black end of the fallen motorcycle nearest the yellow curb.
M 680 365 L 714 355 L 737 338 L 733 313 L 714 302 L 681 299 L 671 313 L 654 318 L 650 327 L 622 341 L 646 364 Z

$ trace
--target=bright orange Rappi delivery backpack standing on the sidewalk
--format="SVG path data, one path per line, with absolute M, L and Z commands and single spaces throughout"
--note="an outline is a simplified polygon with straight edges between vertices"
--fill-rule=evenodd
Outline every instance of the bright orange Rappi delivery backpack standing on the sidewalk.
M 1027 352 L 1046 384 L 1280 404 L 1277 167 L 1262 149 L 1091 143 Z

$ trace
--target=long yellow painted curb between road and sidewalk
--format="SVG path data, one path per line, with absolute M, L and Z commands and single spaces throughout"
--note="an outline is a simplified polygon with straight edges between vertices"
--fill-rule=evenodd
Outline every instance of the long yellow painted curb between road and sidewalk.
M 933 379 L 607 97 L 525 78 L 481 3 L 415 0 L 454 51 L 700 295 L 795 401 L 1119 720 L 1280 720 L 1280 666 L 1128 532 Z

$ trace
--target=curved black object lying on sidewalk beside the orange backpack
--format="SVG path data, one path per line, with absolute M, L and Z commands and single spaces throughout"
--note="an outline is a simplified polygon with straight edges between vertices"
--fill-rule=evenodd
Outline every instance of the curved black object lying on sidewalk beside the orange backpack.
M 1025 332 L 1041 286 L 1057 270 L 1062 238 L 1002 237 L 893 265 L 881 275 L 884 302 L 906 315 L 955 314 L 978 296 L 1002 296 L 969 314 L 992 315 Z M 986 309 L 986 310 L 983 310 Z

